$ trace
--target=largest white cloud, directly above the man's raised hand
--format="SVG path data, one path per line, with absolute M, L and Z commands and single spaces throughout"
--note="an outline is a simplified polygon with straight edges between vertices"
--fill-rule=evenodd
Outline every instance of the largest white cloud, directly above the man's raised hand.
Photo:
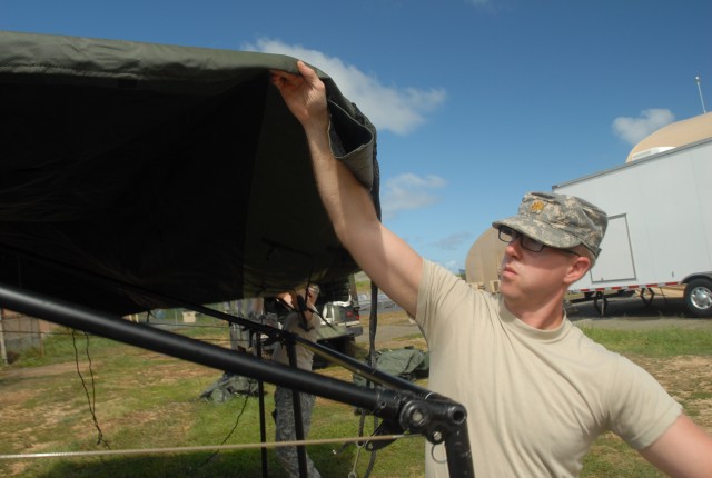
M 244 44 L 245 50 L 280 53 L 314 64 L 330 76 L 342 93 L 355 102 L 379 130 L 407 135 L 425 122 L 425 113 L 439 107 L 447 93 L 442 88 L 419 90 L 386 87 L 373 74 L 366 74 L 353 64 L 317 50 L 284 43 L 279 40 L 258 40 Z

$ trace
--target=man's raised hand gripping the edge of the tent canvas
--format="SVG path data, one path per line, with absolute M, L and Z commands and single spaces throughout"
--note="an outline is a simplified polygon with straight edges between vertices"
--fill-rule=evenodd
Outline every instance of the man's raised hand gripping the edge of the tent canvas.
M 326 131 L 329 116 L 324 83 L 304 61 L 297 61 L 297 69 L 299 74 L 271 70 L 271 82 L 305 130 Z

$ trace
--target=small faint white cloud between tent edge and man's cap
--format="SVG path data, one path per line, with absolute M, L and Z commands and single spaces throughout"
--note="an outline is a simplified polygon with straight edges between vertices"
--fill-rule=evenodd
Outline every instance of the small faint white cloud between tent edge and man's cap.
M 393 219 L 398 212 L 421 209 L 439 200 L 429 190 L 443 188 L 447 182 L 437 176 L 417 176 L 411 172 L 386 180 L 380 191 L 384 219 Z

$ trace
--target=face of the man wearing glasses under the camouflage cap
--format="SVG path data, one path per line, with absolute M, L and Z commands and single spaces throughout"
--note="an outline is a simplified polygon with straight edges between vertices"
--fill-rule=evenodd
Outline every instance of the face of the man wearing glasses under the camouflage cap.
M 577 259 L 550 247 L 532 252 L 522 247 L 518 237 L 504 249 L 500 291 L 510 307 L 516 306 L 520 310 L 538 307 L 568 287 L 568 273 Z

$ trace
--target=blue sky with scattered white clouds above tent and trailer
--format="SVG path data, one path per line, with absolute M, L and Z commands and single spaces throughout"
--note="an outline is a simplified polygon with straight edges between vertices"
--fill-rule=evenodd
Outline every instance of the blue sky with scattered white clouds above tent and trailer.
M 384 222 L 453 270 L 524 192 L 702 113 L 696 76 L 712 108 L 710 0 L 1 0 L 0 29 L 316 64 L 378 128 Z

